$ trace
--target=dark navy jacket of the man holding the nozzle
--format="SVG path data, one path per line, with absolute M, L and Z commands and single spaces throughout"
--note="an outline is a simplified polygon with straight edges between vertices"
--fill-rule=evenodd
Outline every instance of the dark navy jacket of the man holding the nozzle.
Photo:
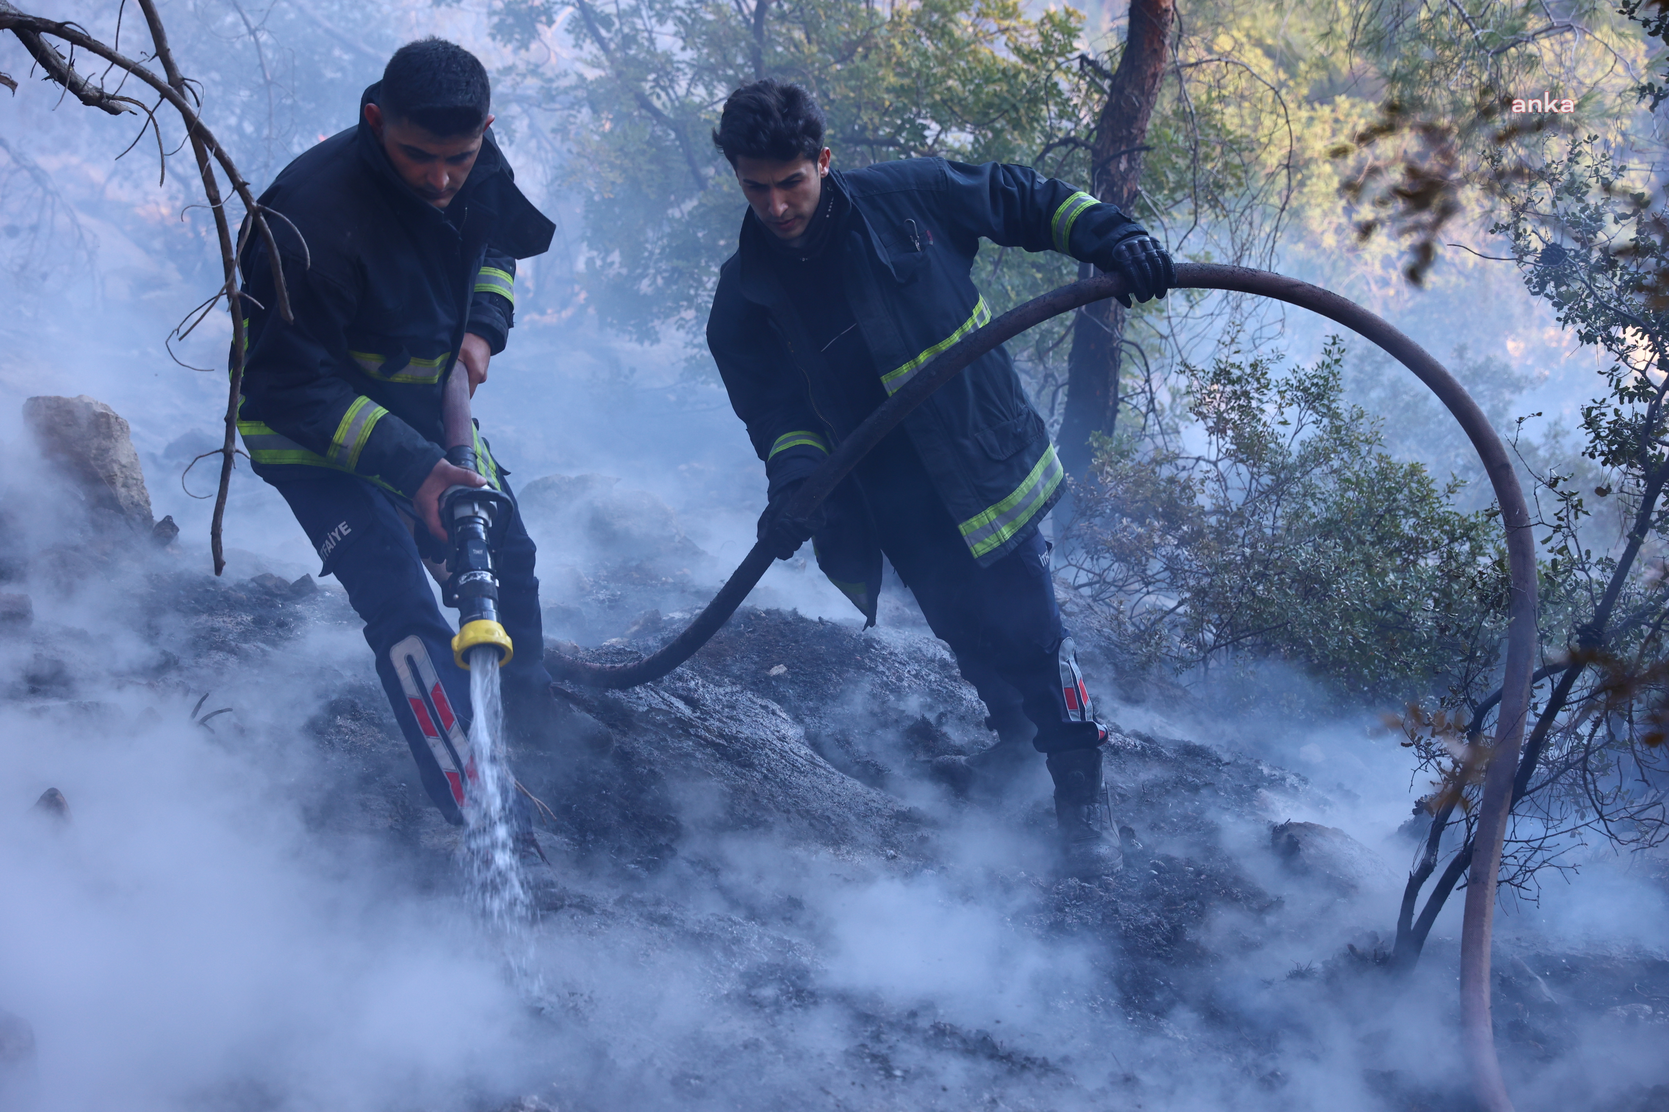
M 516 260 L 544 252 L 556 227 L 516 188 L 491 130 L 447 208 L 422 200 L 364 122 L 377 88 L 361 98 L 357 127 L 295 158 L 260 195 L 284 217 L 269 223 L 295 320 L 279 315 L 267 250 L 252 235 L 242 268 L 257 303 L 245 302 L 237 427 L 262 477 L 330 468 L 409 498 L 444 457 L 442 380 L 464 333 L 494 355 L 504 348 Z

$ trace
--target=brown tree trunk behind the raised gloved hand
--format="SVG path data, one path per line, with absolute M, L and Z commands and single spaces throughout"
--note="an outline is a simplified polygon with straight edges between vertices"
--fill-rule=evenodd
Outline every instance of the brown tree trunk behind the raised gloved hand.
M 1130 37 L 1107 83 L 1107 103 L 1090 142 L 1090 188 L 1097 198 L 1130 212 L 1142 183 L 1142 147 L 1158 87 L 1175 0 L 1130 0 Z M 1080 277 L 1088 277 L 1082 273 Z M 1115 302 L 1083 307 L 1071 322 L 1066 360 L 1066 413 L 1060 427 L 1061 465 L 1075 478 L 1090 470 L 1092 437 L 1112 435 L 1118 420 L 1118 367 L 1125 310 Z

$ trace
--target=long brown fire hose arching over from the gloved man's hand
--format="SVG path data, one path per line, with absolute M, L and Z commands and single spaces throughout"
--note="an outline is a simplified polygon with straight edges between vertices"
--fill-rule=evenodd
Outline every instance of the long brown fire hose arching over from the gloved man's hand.
M 1479 805 L 1472 864 L 1465 889 L 1465 914 L 1460 930 L 1460 1014 L 1462 1040 L 1472 1065 L 1474 1092 L 1487 1112 L 1510 1112 L 1500 1062 L 1495 1057 L 1495 1039 L 1489 1007 L 1489 939 L 1495 907 L 1495 879 L 1500 870 L 1500 849 L 1512 809 L 1512 779 L 1519 767 L 1519 749 L 1524 740 L 1524 722 L 1530 702 L 1530 669 L 1535 657 L 1535 542 L 1530 532 L 1530 510 L 1524 502 L 1517 472 L 1500 437 L 1490 427 L 1477 402 L 1450 375 L 1442 363 L 1419 343 L 1390 323 L 1337 293 L 1298 282 L 1268 270 L 1225 267 L 1217 263 L 1178 263 L 1177 290 L 1232 290 L 1270 297 L 1288 305 L 1308 308 L 1329 320 L 1350 328 L 1357 335 L 1384 348 L 1390 357 L 1412 370 L 1460 423 L 1477 450 L 1484 472 L 1489 475 L 1500 507 L 1500 522 L 1507 538 L 1507 572 L 1510 600 L 1507 607 L 1507 652 L 1502 675 L 1500 710 L 1494 745 L 1484 775 L 1484 799 Z M 870 448 L 881 442 L 898 422 L 921 405 L 930 393 L 950 382 L 963 367 L 980 358 L 998 343 L 1005 343 L 1026 328 L 1050 317 L 1071 312 L 1090 302 L 1098 302 L 1125 292 L 1118 275 L 1097 275 L 1071 285 L 1063 285 L 1025 305 L 1008 310 L 978 332 L 961 338 L 943 352 L 905 387 L 890 397 L 868 417 L 823 463 L 801 483 L 786 513 L 806 518 L 826 498 L 841 478 Z M 754 589 L 759 577 L 771 567 L 771 553 L 756 543 L 724 582 L 718 595 L 684 629 L 683 634 L 631 664 L 592 664 L 576 660 L 561 652 L 546 652 L 546 665 L 561 680 L 589 687 L 636 687 L 658 680 L 704 645 L 736 612 L 743 599 Z

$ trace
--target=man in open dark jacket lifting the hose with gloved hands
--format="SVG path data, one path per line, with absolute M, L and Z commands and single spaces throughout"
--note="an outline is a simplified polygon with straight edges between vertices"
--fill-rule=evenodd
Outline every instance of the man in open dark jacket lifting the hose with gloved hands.
M 971 764 L 1003 775 L 1016 754 L 1045 754 L 1068 870 L 1118 869 L 1103 732 L 1038 533 L 1061 465 L 1008 352 L 910 413 L 809 520 L 786 505 L 890 393 L 990 320 L 970 278 L 981 238 L 1122 273 L 1137 300 L 1175 282 L 1170 255 L 1117 207 L 1028 167 L 905 158 L 831 170 L 823 113 L 798 85 L 738 88 L 713 142 L 748 212 L 708 345 L 764 460 L 759 537 L 778 559 L 811 540 L 866 625 L 885 553 L 990 712 L 998 744 Z

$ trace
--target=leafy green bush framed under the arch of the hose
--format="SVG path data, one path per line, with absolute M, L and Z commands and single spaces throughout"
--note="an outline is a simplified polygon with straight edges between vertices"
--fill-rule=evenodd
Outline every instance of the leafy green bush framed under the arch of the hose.
M 1352 700 L 1425 694 L 1490 645 L 1504 600 L 1492 512 L 1384 450 L 1342 400 L 1344 347 L 1187 370 L 1197 452 L 1103 443 L 1073 574 L 1137 667 L 1287 660 Z

